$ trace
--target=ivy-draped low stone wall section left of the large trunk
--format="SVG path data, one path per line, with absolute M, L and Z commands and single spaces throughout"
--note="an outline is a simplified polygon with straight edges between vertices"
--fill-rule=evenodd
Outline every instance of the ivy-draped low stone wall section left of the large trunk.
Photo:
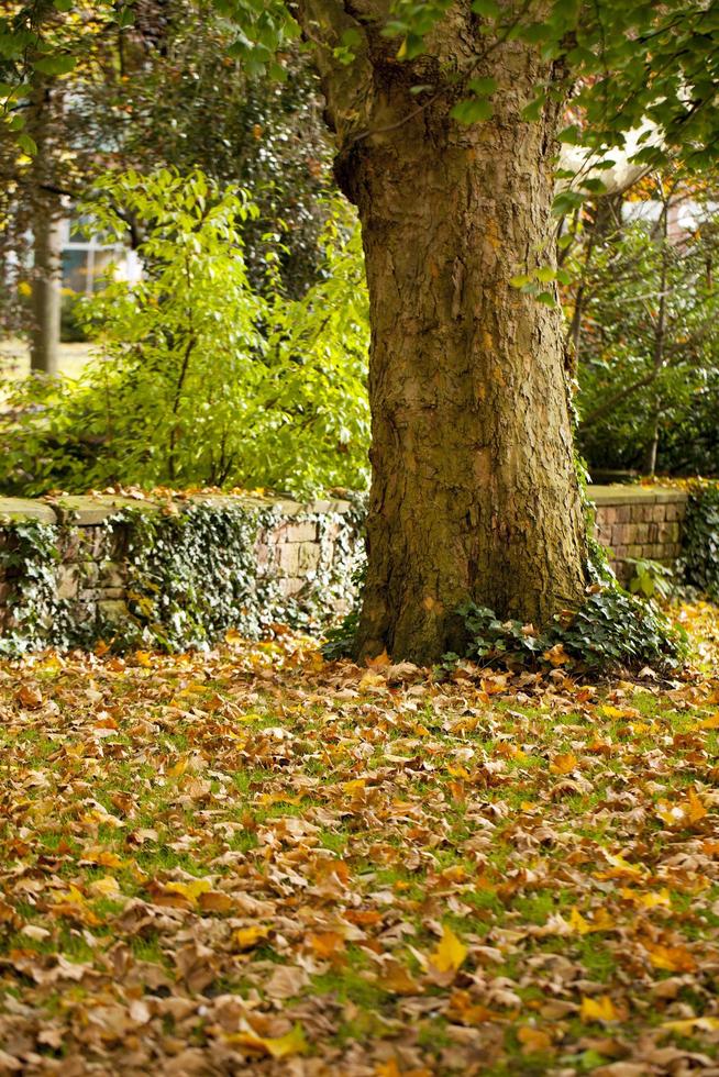
M 165 596 L 148 595 L 146 588 L 145 593 L 136 593 L 135 521 L 139 515 L 155 523 L 163 518 L 189 519 L 190 510 L 200 508 L 210 510 L 220 522 L 223 518 L 234 521 L 230 530 L 235 540 L 237 520 L 246 518 L 247 523 L 246 542 L 235 545 L 229 555 L 221 548 L 222 538 L 217 540 L 215 564 L 209 575 L 221 577 L 225 609 L 219 617 L 212 617 L 210 610 L 208 641 L 218 629 L 236 626 L 251 634 L 267 623 L 286 621 L 322 626 L 347 611 L 354 599 L 353 568 L 362 556 L 362 513 L 351 501 L 302 504 L 288 499 L 209 495 L 174 502 L 121 497 L 5 498 L 0 499 L 0 653 L 3 636 L 14 635 L 22 649 L 22 640 L 30 636 L 35 643 L 45 640 L 62 645 L 65 639 L 81 639 L 80 630 L 91 640 L 108 639 L 115 630 L 124 632 L 128 624 L 142 631 L 143 620 L 145 629 L 152 629 L 153 622 L 163 620 Z M 182 538 L 178 531 L 161 542 L 166 547 L 177 538 Z M 172 602 L 181 615 L 182 607 L 191 603 L 190 592 L 201 591 L 208 580 L 199 565 L 195 578 L 191 564 L 188 573 L 187 549 L 179 557 L 184 557 L 180 569 L 187 602 L 181 580 L 174 587 Z M 165 569 L 168 559 L 172 551 L 168 557 L 165 548 Z M 207 565 L 204 573 L 207 576 Z M 156 590 L 169 592 L 162 571 L 157 580 Z M 198 604 L 199 602 L 196 598 L 195 607 Z M 41 610 L 40 623 L 29 609 L 33 606 Z M 197 621 L 195 610 L 191 617 Z M 31 620 L 35 622 L 32 630 Z M 197 629 L 195 625 L 190 642 L 197 642 Z M 151 632 L 145 636 L 151 645 Z

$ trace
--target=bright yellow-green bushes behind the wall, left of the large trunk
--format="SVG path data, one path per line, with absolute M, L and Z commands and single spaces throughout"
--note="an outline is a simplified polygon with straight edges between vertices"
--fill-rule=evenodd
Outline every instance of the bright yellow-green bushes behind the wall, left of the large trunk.
M 75 385 L 8 385 L 5 488 L 363 488 L 367 300 L 346 212 L 328 221 L 322 278 L 290 300 L 272 252 L 266 293 L 251 287 L 245 192 L 161 169 L 107 175 L 95 193 L 91 226 L 113 240 L 144 222 L 144 275 L 84 303 L 99 349 Z

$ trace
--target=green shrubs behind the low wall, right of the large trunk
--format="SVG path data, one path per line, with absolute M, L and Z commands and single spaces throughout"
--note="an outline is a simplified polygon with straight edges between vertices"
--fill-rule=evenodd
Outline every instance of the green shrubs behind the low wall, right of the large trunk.
M 587 220 L 566 262 L 575 271 L 568 308 L 578 441 L 590 469 L 712 471 L 717 221 L 685 192 L 674 207 L 686 223 L 663 234 L 672 202 L 662 207 L 646 193 L 644 202 L 619 203 L 609 221 Z

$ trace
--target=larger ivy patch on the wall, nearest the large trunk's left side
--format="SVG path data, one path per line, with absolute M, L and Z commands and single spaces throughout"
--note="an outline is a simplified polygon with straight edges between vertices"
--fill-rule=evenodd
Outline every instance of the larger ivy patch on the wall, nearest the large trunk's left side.
M 111 526 L 124 536 L 130 615 L 104 630 L 115 648 L 181 651 L 207 647 L 228 629 L 257 637 L 272 623 L 317 631 L 331 622 L 334 603 L 354 595 L 361 514 L 310 511 L 298 519 L 320 529 L 322 556 L 300 596 L 288 599 L 273 574 L 257 567 L 257 544 L 280 522 L 281 504 L 120 513 Z

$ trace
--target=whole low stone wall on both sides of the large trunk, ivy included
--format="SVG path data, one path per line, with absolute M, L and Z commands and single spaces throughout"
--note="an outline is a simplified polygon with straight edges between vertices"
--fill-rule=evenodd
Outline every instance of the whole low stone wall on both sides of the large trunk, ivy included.
M 610 548 L 621 579 L 632 575 L 630 558 L 671 564 L 678 556 L 685 493 L 627 486 L 595 486 L 589 493 L 597 509 L 597 537 Z M 132 519 L 137 513 L 143 519 L 188 519 L 198 506 L 213 510 L 220 521 L 223 514 L 235 520 L 235 545 L 226 551 L 221 537 L 208 538 L 217 541 L 217 556 L 196 547 L 196 571 L 191 544 L 182 546 L 182 534 L 166 530 L 157 547 L 165 576 L 158 569 L 153 577 L 151 557 L 143 590 L 133 575 L 137 534 L 128 510 L 136 510 Z M 237 544 L 236 520 L 237 514 L 244 519 L 243 513 L 248 521 L 246 541 L 242 532 Z M 300 504 L 255 497 L 198 496 L 173 502 L 0 499 L 0 653 L 107 639 L 123 623 L 147 645 L 162 637 L 158 624 L 167 630 L 168 645 L 185 639 L 192 645 L 210 642 L 231 626 L 243 632 L 262 631 L 270 622 L 322 626 L 354 599 L 352 574 L 362 560 L 361 515 L 351 501 Z M 179 584 L 167 576 L 173 557 L 167 547 L 173 543 L 182 547 Z M 202 604 L 198 592 L 214 585 L 217 593 L 197 614 Z M 213 603 L 221 607 L 219 612 Z M 204 626 L 198 617 L 199 622 L 204 617 Z M 181 625 L 173 629 L 184 619 L 186 635 Z

